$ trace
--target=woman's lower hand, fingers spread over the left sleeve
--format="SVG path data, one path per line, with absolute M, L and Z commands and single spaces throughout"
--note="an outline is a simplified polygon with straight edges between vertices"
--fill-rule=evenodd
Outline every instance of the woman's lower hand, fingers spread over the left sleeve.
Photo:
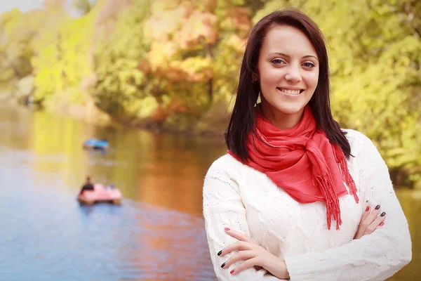
M 253 266 L 265 268 L 269 273 L 272 273 L 279 279 L 289 279 L 288 270 L 286 269 L 285 261 L 279 259 L 274 254 L 256 244 L 250 237 L 235 230 L 225 228 L 225 232 L 232 237 L 238 239 L 238 242 L 230 244 L 222 249 L 218 256 L 225 256 L 232 251 L 239 251 L 229 258 L 225 263 L 222 263 L 222 268 L 228 268 L 236 261 L 243 261 L 238 267 L 231 270 L 231 274 L 240 273 L 246 268 Z

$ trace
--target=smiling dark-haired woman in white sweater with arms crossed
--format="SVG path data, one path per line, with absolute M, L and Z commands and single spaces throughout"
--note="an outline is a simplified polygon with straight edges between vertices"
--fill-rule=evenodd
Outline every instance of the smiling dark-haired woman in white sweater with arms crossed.
M 225 140 L 203 186 L 218 280 L 385 280 L 410 261 L 385 162 L 332 117 L 326 46 L 307 15 L 253 27 Z

